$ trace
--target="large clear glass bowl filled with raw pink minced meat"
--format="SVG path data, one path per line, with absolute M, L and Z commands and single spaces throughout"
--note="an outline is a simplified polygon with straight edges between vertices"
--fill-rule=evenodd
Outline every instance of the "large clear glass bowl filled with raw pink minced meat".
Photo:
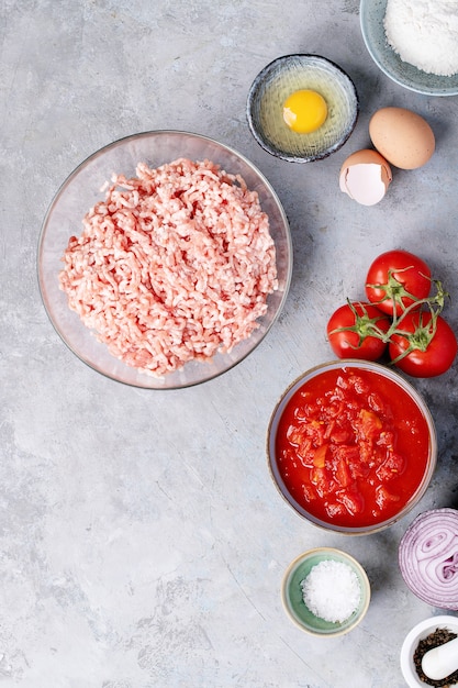
M 210 380 L 277 320 L 290 230 L 267 179 L 205 136 L 153 131 L 87 158 L 43 222 L 38 281 L 69 348 L 146 389 Z

